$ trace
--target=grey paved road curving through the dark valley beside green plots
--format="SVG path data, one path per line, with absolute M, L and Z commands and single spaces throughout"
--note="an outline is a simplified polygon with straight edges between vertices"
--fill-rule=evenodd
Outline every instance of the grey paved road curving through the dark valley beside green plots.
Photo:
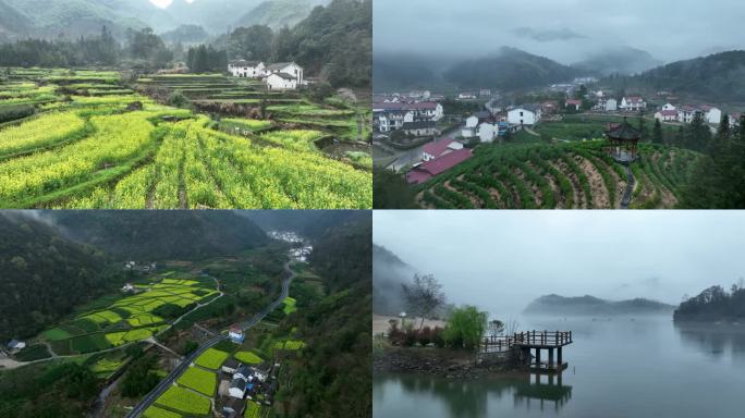
M 288 262 L 284 263 L 284 271 L 288 273 L 288 276 L 282 282 L 282 292 L 280 294 L 280 297 L 272 302 L 269 306 L 264 308 L 264 310 L 256 314 L 253 318 L 237 323 L 237 327 L 243 329 L 243 331 L 247 331 L 248 329 L 259 323 L 267 315 L 269 315 L 269 312 L 277 309 L 277 307 L 280 306 L 280 304 L 282 304 L 282 300 L 284 300 L 284 298 L 290 295 L 290 283 L 292 283 L 292 280 L 295 279 L 295 276 L 297 275 L 297 273 L 295 273 L 290 268 L 290 263 L 292 261 L 293 259 L 291 258 Z M 163 394 L 163 392 L 171 388 L 171 385 L 173 385 L 176 379 L 179 379 L 179 377 L 184 371 L 186 371 L 186 369 L 188 369 L 191 364 L 194 362 L 197 357 L 199 357 L 204 352 L 213 347 L 219 342 L 224 340 L 228 340 L 227 334 L 216 335 L 208 340 L 206 343 L 201 344 L 199 348 L 194 351 L 194 353 L 186 356 L 186 358 L 184 358 L 184 360 L 181 361 L 181 364 L 175 369 L 173 369 L 173 371 L 171 371 L 171 373 L 166 379 L 160 381 L 160 383 L 158 383 L 158 385 L 152 391 L 150 391 L 150 393 L 145 395 L 145 397 L 139 402 L 139 404 L 135 406 L 134 409 L 130 411 L 130 414 L 126 415 L 126 418 L 136 418 L 142 416 L 143 413 L 145 413 L 145 409 L 150 407 L 150 405 L 152 405 L 156 402 L 156 399 L 158 399 L 158 397 L 160 397 L 160 395 Z

